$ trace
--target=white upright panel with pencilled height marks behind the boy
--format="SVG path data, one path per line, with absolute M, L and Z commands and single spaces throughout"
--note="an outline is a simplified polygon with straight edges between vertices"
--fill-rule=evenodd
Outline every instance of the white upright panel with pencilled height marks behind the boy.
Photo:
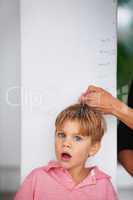
M 89 84 L 116 93 L 114 0 L 21 0 L 21 178 L 54 159 L 54 120 Z M 113 177 L 116 121 L 95 162 Z M 91 161 L 94 162 L 94 161 Z

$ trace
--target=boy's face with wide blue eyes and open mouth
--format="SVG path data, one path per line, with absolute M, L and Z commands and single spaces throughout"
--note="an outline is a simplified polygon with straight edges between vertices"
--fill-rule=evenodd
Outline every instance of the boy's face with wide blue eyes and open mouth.
M 96 154 L 99 149 L 99 143 L 92 144 L 89 136 L 80 135 L 79 126 L 76 120 L 66 120 L 62 127 L 56 128 L 56 157 L 68 170 L 84 168 L 88 156 Z

